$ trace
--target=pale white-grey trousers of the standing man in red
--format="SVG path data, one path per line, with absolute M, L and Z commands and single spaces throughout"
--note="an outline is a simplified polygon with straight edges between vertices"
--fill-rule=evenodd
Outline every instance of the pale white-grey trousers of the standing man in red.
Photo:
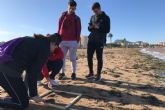
M 72 72 L 76 73 L 76 67 L 77 67 L 76 53 L 78 47 L 77 41 L 62 41 L 60 47 L 64 53 L 62 73 L 65 73 L 66 70 L 66 56 L 68 51 L 69 51 L 70 61 L 72 62 Z

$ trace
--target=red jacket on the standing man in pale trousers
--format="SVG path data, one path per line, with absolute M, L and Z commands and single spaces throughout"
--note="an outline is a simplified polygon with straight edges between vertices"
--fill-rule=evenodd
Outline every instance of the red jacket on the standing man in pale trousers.
M 62 36 L 62 41 L 80 41 L 81 20 L 75 15 L 68 15 L 64 12 L 59 20 L 58 34 Z

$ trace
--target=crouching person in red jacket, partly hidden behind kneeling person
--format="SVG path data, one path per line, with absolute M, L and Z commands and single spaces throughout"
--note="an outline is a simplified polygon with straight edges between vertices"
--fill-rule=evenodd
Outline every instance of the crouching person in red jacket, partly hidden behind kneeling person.
M 48 81 L 49 88 L 58 85 L 57 81 L 55 81 L 55 76 L 59 73 L 63 66 L 63 58 L 63 51 L 60 47 L 57 47 L 54 52 L 50 54 L 47 63 L 45 63 L 42 68 L 42 75 Z M 50 75 L 49 72 L 51 72 Z

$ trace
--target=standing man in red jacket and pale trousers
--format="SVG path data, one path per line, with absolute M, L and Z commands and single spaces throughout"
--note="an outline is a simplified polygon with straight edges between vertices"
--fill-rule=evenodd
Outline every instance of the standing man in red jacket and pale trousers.
M 76 51 L 81 33 L 81 21 L 75 14 L 76 7 L 77 3 L 74 0 L 70 0 L 68 3 L 68 11 L 64 12 L 59 20 L 58 33 L 62 36 L 60 47 L 64 52 L 62 73 L 59 77 L 60 80 L 65 78 L 65 63 L 68 51 L 73 70 L 71 78 L 72 80 L 76 80 Z

